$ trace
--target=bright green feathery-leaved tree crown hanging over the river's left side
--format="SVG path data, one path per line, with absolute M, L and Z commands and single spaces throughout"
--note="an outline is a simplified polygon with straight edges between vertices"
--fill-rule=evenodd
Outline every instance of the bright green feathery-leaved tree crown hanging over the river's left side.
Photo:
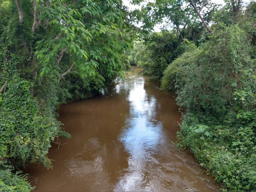
M 41 76 L 53 69 L 59 49 L 65 48 L 82 78 L 94 76 L 97 68 L 109 77 L 123 69 L 119 57 L 128 44 L 121 40 L 124 15 L 114 7 L 114 1 L 88 0 L 69 6 L 56 3 L 42 10 L 39 18 L 50 20 L 51 30 L 50 38 L 36 42 Z

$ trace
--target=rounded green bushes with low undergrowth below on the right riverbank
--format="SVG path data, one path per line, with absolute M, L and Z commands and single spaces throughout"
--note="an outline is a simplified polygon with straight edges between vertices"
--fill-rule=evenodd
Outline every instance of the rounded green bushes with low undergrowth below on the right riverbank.
M 161 87 L 186 108 L 177 134 L 223 191 L 256 187 L 256 79 L 250 41 L 237 25 L 176 58 Z

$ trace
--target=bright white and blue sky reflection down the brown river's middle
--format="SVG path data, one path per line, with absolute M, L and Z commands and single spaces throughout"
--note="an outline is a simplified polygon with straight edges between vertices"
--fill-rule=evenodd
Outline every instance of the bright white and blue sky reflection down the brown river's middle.
M 133 85 L 128 95 L 130 115 L 119 137 L 130 154 L 128 168 L 117 183 L 115 191 L 138 190 L 143 183 L 146 162 L 151 161 L 161 136 L 159 130 L 162 124 L 154 116 L 156 100 L 153 96 L 147 99 L 144 78 L 135 79 Z

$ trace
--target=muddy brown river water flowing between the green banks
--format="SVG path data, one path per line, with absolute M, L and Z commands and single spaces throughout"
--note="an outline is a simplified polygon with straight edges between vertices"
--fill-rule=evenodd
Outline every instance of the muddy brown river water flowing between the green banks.
M 27 168 L 33 191 L 219 191 L 193 156 L 171 143 L 181 118 L 173 95 L 139 71 L 133 67 L 105 95 L 60 107 L 72 138 L 52 143 L 53 169 Z

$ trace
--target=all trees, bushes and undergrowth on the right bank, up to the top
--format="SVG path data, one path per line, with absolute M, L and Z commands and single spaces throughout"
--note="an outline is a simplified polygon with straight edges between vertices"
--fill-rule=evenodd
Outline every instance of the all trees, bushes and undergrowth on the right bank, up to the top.
M 173 9 L 178 2 L 182 15 Z M 172 19 L 172 29 L 141 37 L 131 61 L 176 93 L 183 111 L 177 146 L 188 148 L 223 191 L 256 191 L 256 2 L 230 0 L 218 9 L 189 2 L 144 6 L 152 20 Z

